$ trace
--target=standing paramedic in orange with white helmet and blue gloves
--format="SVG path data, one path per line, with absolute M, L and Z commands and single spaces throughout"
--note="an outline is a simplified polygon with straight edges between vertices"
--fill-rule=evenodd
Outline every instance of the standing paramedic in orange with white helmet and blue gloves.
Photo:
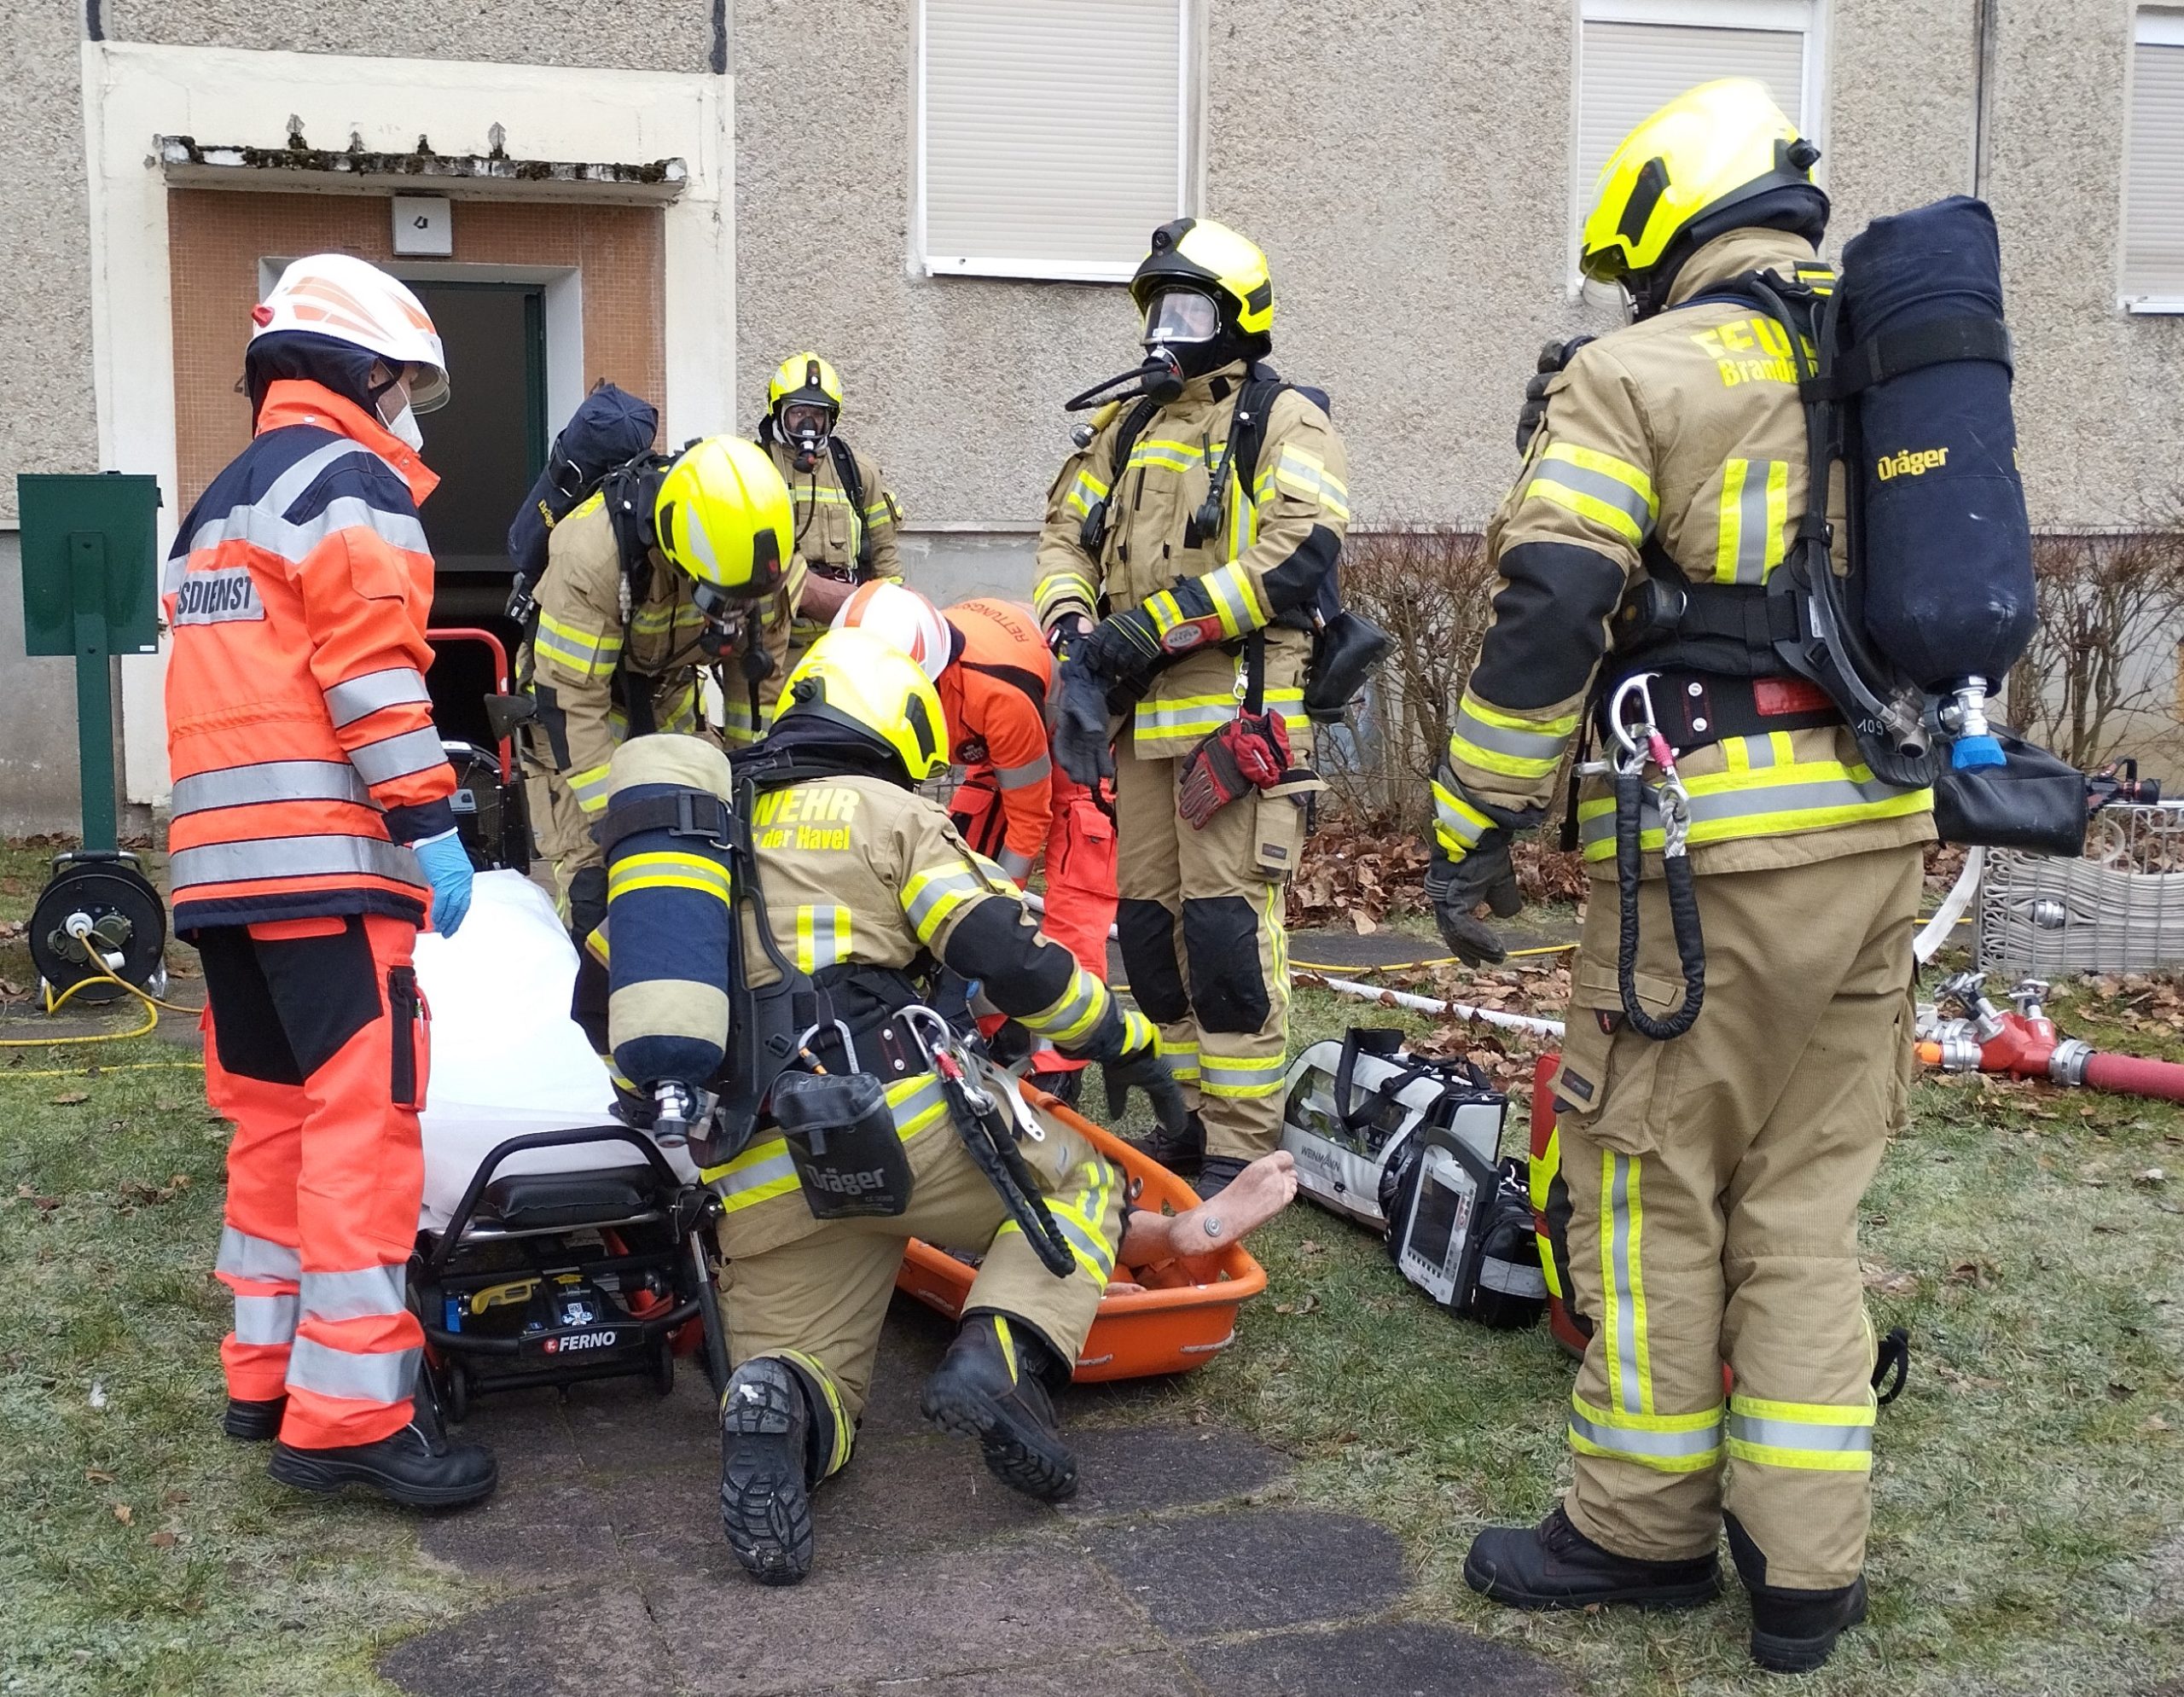
M 470 856 L 424 673 L 432 555 L 415 408 L 446 400 L 417 297 L 365 260 L 290 264 L 251 312 L 256 435 L 162 585 L 175 933 L 205 965 L 205 1094 L 234 1127 L 216 1273 L 225 1428 L 269 1472 L 411 1507 L 496 1463 L 411 1391 L 428 1048 L 411 950 L 454 933 Z

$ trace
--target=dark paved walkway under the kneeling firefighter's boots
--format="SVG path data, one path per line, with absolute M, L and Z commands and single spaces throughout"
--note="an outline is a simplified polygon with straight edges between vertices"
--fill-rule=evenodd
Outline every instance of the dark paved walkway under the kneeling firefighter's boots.
M 424 1548 L 515 1594 L 389 1651 L 417 1697 L 1566 1697 L 1544 1662 L 1391 1618 L 1402 1548 L 1369 1520 L 1254 1505 L 1286 1461 L 1236 1433 L 1155 1424 L 1127 1387 L 1079 1391 L 1136 1424 L 1077 1433 L 1061 1509 L 998 1485 L 917 1417 L 946 1328 L 898 1302 L 856 1457 L 819 1494 L 819 1557 L 749 1583 L 721 1540 L 719 1446 L 697 1372 L 485 1400 L 500 1452 L 474 1514 Z M 1064 1413 L 1068 1417 L 1068 1409 Z

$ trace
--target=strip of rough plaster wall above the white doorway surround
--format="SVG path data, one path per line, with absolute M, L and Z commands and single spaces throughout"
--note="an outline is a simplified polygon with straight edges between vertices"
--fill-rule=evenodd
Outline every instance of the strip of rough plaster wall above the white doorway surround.
M 179 48 L 705 70 L 714 0 L 105 0 L 107 37 Z

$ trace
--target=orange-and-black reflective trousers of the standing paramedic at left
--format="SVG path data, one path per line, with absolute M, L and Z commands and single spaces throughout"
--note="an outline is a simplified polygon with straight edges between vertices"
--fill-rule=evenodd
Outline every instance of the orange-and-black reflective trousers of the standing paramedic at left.
M 424 1330 L 404 1269 L 430 1051 L 415 939 L 380 913 L 197 935 L 205 1096 L 236 1127 L 221 1363 L 229 1396 L 288 1398 L 280 1435 L 297 1448 L 371 1444 L 411 1420 Z

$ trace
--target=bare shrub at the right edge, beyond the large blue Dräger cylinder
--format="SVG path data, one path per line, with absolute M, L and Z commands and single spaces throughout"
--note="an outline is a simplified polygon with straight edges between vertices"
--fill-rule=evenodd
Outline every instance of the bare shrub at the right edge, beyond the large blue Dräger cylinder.
M 2040 627 L 2009 673 L 2009 723 L 2073 767 L 2169 712 L 2184 625 L 2184 529 L 2033 537 Z

